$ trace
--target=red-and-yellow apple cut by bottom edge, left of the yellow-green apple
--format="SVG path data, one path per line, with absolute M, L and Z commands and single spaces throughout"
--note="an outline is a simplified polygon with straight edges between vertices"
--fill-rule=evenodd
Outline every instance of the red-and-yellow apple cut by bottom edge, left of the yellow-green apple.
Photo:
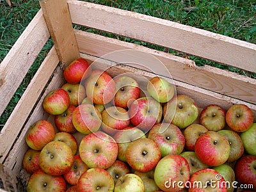
M 111 175 L 101 168 L 90 168 L 78 180 L 77 191 L 113 191 L 115 183 Z

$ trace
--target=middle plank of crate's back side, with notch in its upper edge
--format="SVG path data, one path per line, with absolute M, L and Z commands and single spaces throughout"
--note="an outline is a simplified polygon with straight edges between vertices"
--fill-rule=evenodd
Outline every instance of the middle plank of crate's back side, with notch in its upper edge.
M 115 52 L 115 58 L 113 60 L 118 63 L 135 58 L 136 54 L 131 52 L 130 58 L 127 58 L 122 55 L 122 52 L 119 55 L 116 51 L 134 49 L 135 51 L 147 52 L 161 61 L 168 68 L 168 72 L 172 75 L 173 79 L 177 81 L 256 104 L 256 79 L 240 76 L 233 72 L 221 70 L 220 68 L 210 66 L 196 67 L 194 61 L 105 36 L 78 30 L 75 30 L 75 35 L 80 52 L 98 57 L 103 56 L 104 58 L 109 57 L 104 56 L 105 54 L 111 55 L 113 54 L 111 52 Z M 156 74 L 170 76 L 163 68 L 156 67 L 156 60 L 137 56 L 136 61 L 138 63 L 145 63 L 148 68 L 154 69 Z

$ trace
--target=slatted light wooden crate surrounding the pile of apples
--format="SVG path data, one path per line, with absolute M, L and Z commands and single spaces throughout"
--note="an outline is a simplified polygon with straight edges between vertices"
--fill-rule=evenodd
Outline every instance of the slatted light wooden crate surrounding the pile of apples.
M 72 24 L 168 47 L 250 72 L 256 72 L 256 45 L 169 20 L 84 1 L 40 0 L 40 4 L 42 10 L 36 14 L 0 65 L 1 115 L 51 35 L 54 46 L 0 134 L 0 163 L 20 175 L 24 183 L 28 181 L 28 174 L 22 170 L 22 157 L 28 149 L 24 136 L 29 125 L 36 120 L 52 122 L 52 116 L 42 108 L 42 99 L 50 90 L 65 83 L 63 68 L 79 57 L 92 63 L 109 52 L 124 49 L 147 52 L 168 68 L 177 93 L 193 97 L 200 109 L 209 104 L 219 104 L 227 110 L 232 104 L 241 103 L 252 109 L 256 119 L 256 79 L 206 65 L 197 67 L 192 60 L 79 31 Z M 147 63 L 148 68 L 157 68 L 156 63 L 147 58 L 136 60 Z M 122 58 L 117 57 L 113 62 L 122 63 Z M 103 63 L 108 65 L 108 62 L 102 61 L 97 67 L 105 66 Z M 112 76 L 124 72 L 147 78 L 156 76 L 145 68 L 126 64 L 111 67 L 108 72 Z M 157 74 L 166 76 L 159 67 Z

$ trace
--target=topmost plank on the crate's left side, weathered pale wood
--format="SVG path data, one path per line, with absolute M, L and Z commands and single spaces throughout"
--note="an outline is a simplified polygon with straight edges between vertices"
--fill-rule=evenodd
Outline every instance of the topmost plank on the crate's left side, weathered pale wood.
M 49 39 L 42 10 L 23 31 L 0 65 L 0 115 Z

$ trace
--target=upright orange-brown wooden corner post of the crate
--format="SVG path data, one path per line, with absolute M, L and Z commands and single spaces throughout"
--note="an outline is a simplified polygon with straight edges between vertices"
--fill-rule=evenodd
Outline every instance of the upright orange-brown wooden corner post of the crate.
M 64 67 L 79 58 L 76 38 L 65 0 L 40 0 L 44 17 Z M 58 8 L 56 10 L 56 8 Z

